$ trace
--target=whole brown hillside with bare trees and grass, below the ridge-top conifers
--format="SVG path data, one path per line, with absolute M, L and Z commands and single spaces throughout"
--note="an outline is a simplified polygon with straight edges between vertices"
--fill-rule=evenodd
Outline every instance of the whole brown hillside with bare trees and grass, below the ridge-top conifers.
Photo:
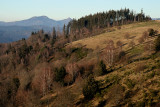
M 0 105 L 158 107 L 160 53 L 151 28 L 160 32 L 160 22 L 104 28 L 71 43 L 39 31 L 27 40 L 0 44 Z M 108 44 L 115 47 L 114 59 Z

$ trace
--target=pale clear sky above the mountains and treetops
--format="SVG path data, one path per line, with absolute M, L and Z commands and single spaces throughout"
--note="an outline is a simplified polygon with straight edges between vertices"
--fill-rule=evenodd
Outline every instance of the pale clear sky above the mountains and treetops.
M 160 17 L 160 0 L 0 0 L 0 21 L 23 20 L 33 16 L 48 16 L 60 20 L 130 8 L 151 17 Z

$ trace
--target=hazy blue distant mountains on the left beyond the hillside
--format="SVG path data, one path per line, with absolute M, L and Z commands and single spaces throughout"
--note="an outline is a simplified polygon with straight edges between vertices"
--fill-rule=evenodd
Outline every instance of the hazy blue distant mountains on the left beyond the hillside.
M 67 18 L 56 21 L 47 16 L 39 16 L 15 22 L 0 21 L 0 43 L 28 38 L 32 31 L 38 31 L 40 29 L 44 29 L 46 32 L 51 32 L 53 27 L 62 30 L 63 25 L 67 25 L 71 20 L 71 18 Z

